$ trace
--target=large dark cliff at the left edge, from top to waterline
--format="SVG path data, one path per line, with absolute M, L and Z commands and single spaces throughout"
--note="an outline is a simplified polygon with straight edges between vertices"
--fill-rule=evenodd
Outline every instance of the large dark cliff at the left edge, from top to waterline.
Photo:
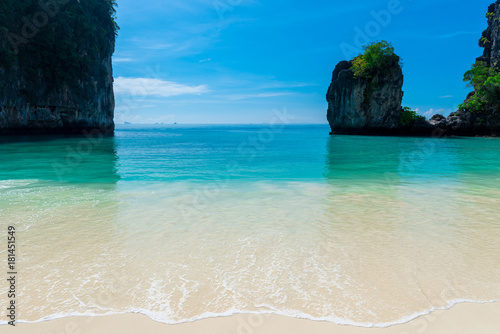
M 109 2 L 72 0 L 57 8 L 32 2 L 12 9 L 28 20 L 0 27 L 0 134 L 112 133 L 116 31 Z M 44 10 L 46 25 L 33 25 L 36 34 L 26 36 L 32 13 Z M 95 17 L 96 10 L 105 15 Z M 88 15 L 73 15 L 78 11 Z

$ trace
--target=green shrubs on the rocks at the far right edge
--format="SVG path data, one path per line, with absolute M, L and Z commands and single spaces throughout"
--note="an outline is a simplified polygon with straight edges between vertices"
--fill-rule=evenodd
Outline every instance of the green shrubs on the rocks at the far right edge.
M 458 108 L 463 111 L 483 112 L 500 104 L 500 72 L 485 62 L 476 62 L 464 74 L 464 81 L 474 87 L 474 94 Z

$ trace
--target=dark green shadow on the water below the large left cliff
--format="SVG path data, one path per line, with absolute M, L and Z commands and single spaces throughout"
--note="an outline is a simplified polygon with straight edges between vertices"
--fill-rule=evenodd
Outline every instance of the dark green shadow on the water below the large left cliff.
M 114 185 L 117 161 L 114 136 L 0 137 L 0 181 Z

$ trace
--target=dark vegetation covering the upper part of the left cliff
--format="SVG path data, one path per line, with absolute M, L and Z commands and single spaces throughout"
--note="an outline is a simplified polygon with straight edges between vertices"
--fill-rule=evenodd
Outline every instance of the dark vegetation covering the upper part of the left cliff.
M 100 59 L 118 30 L 115 8 L 115 0 L 2 0 L 0 68 L 19 68 L 52 89 L 102 75 Z

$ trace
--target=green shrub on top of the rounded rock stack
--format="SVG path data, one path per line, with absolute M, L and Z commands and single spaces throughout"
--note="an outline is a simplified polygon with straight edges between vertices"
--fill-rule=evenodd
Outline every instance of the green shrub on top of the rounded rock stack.
M 375 73 L 386 73 L 400 62 L 394 47 L 387 41 L 369 44 L 363 50 L 363 54 L 351 61 L 355 78 L 371 79 Z

